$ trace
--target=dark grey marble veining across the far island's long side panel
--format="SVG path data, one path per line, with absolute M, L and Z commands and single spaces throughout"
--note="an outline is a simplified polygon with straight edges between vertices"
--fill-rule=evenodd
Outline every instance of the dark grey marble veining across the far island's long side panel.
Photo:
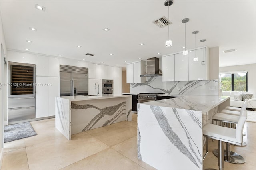
M 120 109 L 123 108 L 124 109 Z M 89 108 L 95 108 L 97 110 L 100 111 L 100 113 L 98 113 L 89 123 L 88 125 L 86 125 L 86 127 L 82 130 L 82 132 L 85 132 L 87 130 L 90 130 L 96 123 L 98 123 L 98 121 L 100 119 L 102 119 L 102 117 L 104 117 L 105 115 L 114 115 L 116 113 L 116 115 L 114 115 L 114 117 L 112 117 L 112 119 L 106 121 L 102 126 L 106 126 L 112 123 L 114 123 L 114 120 L 118 119 L 118 117 L 120 117 L 120 115 L 125 115 L 125 102 L 119 103 L 118 105 L 114 105 L 114 106 L 109 106 L 109 107 L 104 107 L 104 108 L 99 108 L 96 107 L 94 105 L 90 105 L 90 104 L 84 104 L 84 105 L 78 105 L 75 103 L 71 103 L 71 108 L 72 109 L 89 109 Z M 118 111 L 119 110 L 119 111 Z

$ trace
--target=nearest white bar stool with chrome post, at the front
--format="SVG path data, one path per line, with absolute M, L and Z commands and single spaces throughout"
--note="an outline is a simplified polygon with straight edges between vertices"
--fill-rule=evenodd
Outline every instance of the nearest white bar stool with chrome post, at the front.
M 224 170 L 224 142 L 241 145 L 243 142 L 243 128 L 247 119 L 247 111 L 243 111 L 236 129 L 222 127 L 214 124 L 206 124 L 203 127 L 203 136 L 218 140 L 218 166 Z M 226 155 L 225 157 L 227 157 Z

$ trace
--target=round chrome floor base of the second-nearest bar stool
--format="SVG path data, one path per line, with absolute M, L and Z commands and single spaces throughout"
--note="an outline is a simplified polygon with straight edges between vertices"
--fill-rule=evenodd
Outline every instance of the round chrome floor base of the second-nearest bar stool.
M 224 150 L 224 160 L 226 162 L 230 162 L 232 164 L 244 164 L 245 163 L 245 160 L 244 160 L 244 157 L 242 157 L 240 154 L 236 153 L 236 152 L 233 152 L 233 151 L 230 151 L 230 158 L 228 159 L 227 158 L 227 155 L 226 155 L 226 149 Z M 212 151 L 212 153 L 218 157 L 218 149 L 214 149 Z

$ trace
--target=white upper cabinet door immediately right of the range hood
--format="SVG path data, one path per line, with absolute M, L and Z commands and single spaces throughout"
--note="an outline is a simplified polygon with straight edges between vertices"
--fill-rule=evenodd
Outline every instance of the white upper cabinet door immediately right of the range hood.
M 174 55 L 163 56 L 163 81 L 174 81 Z

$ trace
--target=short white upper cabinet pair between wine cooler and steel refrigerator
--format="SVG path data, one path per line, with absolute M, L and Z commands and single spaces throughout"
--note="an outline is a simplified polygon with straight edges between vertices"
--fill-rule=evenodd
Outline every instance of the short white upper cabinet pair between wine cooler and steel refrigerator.
M 36 76 L 59 77 L 59 59 L 36 55 Z

